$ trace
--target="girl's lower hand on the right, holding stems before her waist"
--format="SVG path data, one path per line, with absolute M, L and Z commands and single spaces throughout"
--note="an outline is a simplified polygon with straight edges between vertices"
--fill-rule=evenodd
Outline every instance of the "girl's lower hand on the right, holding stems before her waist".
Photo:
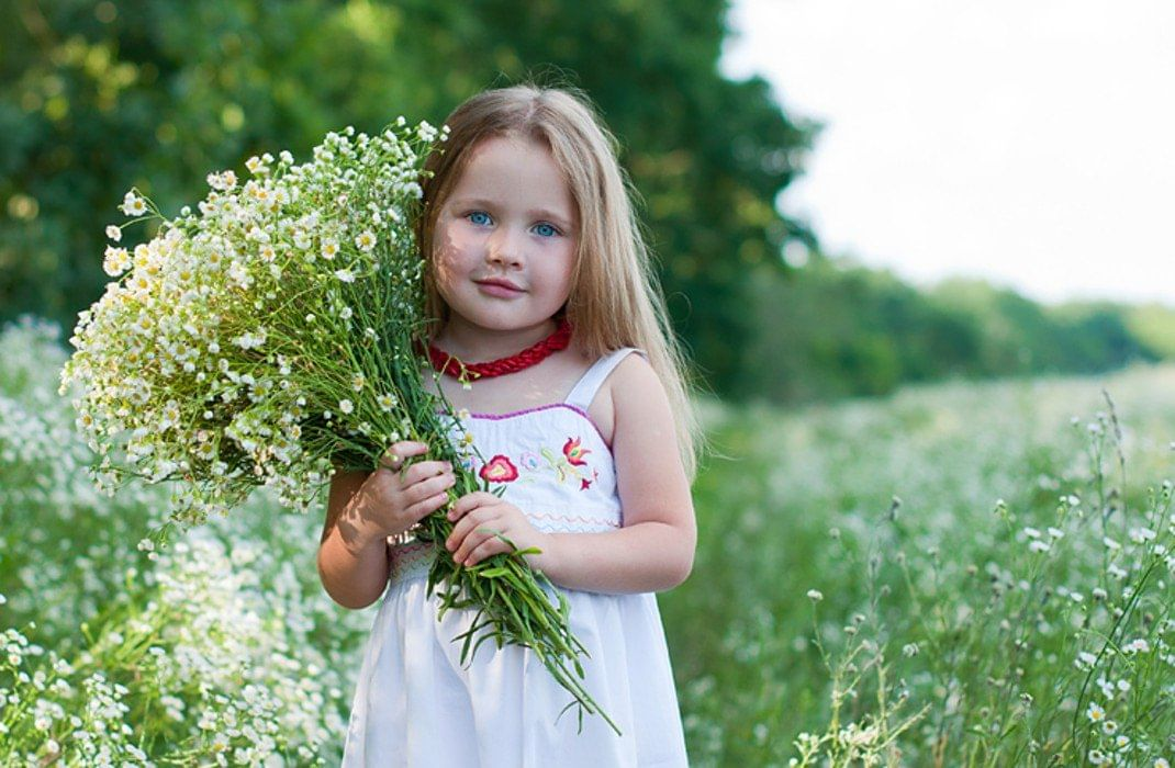
M 458 565 L 469 567 L 492 554 L 511 552 L 510 545 L 495 533 L 510 539 L 519 550 L 543 550 L 539 555 L 523 555 L 532 568 L 542 571 L 543 562 L 550 558 L 546 551 L 550 537 L 531 525 L 522 510 L 492 493 L 466 493 L 449 510 L 449 519 L 456 525 L 445 547 L 454 553 L 452 559 Z

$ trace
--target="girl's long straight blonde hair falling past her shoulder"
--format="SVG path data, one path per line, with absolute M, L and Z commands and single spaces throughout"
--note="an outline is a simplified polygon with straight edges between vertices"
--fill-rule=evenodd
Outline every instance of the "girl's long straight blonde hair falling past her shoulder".
M 565 312 L 576 343 L 590 357 L 622 346 L 649 355 L 676 420 L 682 464 L 693 479 L 701 430 L 682 348 L 669 325 L 665 299 L 633 210 L 639 198 L 617 160 L 618 142 L 578 89 L 518 85 L 484 90 L 445 119 L 449 139 L 424 163 L 417 242 L 424 254 L 427 315 L 449 308 L 432 275 L 434 230 L 445 201 L 483 139 L 526 137 L 542 142 L 563 170 L 579 213 L 579 242 Z M 434 323 L 430 334 L 436 334 Z

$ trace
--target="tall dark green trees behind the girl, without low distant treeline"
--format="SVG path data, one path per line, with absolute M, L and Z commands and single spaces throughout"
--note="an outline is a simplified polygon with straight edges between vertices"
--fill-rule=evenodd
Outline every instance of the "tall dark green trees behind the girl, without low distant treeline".
M 724 12 L 721 0 L 6 4 L 0 319 L 72 326 L 101 292 L 102 228 L 132 186 L 170 215 L 202 197 L 208 171 L 251 154 L 297 154 L 396 114 L 439 123 L 482 88 L 537 75 L 586 89 L 620 137 L 678 325 L 725 389 L 740 363 L 726 339 L 754 324 L 744 268 L 778 261 L 803 233 L 771 201 L 810 129 L 764 81 L 718 75 Z

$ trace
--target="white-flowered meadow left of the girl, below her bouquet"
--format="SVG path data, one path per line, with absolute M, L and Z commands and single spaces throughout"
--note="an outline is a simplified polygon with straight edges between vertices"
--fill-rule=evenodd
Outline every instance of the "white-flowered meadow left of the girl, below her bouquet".
M 94 492 L 49 326 L 0 336 L 0 766 L 337 764 L 370 617 L 268 494 L 166 552 L 164 489 Z

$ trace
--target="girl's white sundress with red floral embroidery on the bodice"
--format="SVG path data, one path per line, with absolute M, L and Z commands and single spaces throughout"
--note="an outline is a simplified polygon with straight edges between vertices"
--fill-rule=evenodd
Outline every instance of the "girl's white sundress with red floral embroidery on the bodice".
M 512 413 L 474 413 L 464 423 L 484 465 L 544 532 L 604 532 L 623 526 L 612 453 L 588 406 L 632 350 L 599 358 L 563 403 Z M 586 647 L 589 695 L 616 722 L 584 714 L 529 648 L 483 642 L 461 665 L 474 609 L 437 620 L 425 593 L 429 545 L 394 547 L 391 574 L 363 653 L 343 753 L 348 768 L 647 768 L 686 766 L 669 649 L 653 593 L 610 594 L 557 587 L 571 629 Z M 558 720 L 558 722 L 556 722 Z

